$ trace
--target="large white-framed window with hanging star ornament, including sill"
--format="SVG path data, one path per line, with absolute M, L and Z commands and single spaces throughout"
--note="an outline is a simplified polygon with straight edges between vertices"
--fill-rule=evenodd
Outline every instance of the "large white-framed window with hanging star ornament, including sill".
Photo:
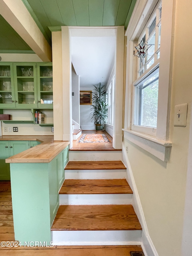
M 125 139 L 166 162 L 172 146 L 169 121 L 173 1 L 162 0 L 162 8 L 160 1 L 158 4 L 156 0 L 140 1 L 125 33 L 127 59 L 123 131 Z M 134 57 L 133 51 L 142 38 L 144 44 L 150 42 L 152 46 L 141 61 Z

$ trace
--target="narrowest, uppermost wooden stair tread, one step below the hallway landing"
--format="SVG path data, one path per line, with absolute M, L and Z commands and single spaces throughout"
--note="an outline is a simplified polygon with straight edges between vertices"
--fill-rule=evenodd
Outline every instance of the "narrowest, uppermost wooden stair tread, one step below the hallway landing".
M 119 170 L 126 169 L 122 161 L 69 161 L 65 170 Z

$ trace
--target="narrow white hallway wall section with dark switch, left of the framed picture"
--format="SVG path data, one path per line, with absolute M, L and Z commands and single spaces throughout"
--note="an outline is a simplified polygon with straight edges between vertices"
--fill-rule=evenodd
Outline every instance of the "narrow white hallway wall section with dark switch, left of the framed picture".
M 75 121 L 74 129 L 80 128 L 80 110 L 79 110 L 79 76 L 76 74 L 72 64 L 72 119 Z

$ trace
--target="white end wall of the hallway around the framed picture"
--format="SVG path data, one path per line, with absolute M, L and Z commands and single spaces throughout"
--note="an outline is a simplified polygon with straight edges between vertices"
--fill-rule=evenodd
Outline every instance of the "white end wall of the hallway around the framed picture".
M 93 87 L 80 88 L 80 91 L 93 91 Z M 82 130 L 95 130 L 94 121 L 91 121 L 91 105 L 80 105 L 80 126 Z

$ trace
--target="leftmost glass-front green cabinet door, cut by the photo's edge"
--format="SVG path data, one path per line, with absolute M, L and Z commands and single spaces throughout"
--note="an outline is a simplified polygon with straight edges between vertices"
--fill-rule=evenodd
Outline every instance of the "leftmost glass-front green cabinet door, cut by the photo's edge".
M 0 108 L 14 108 L 13 64 L 0 62 Z

